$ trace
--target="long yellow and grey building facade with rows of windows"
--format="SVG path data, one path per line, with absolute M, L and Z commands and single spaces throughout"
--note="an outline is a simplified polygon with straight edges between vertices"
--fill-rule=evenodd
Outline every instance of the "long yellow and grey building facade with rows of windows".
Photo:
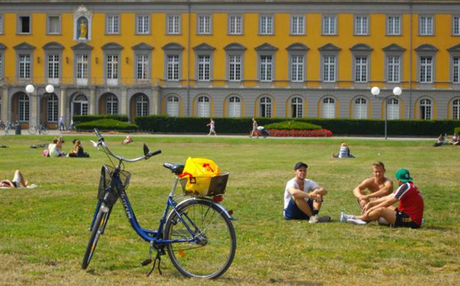
M 459 1 L 1 1 L 0 119 L 459 120 L 459 40 Z

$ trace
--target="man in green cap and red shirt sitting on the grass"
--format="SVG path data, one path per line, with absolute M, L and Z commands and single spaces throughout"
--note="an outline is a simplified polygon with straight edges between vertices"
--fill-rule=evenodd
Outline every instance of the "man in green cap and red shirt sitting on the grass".
M 342 214 L 346 222 L 351 224 L 367 224 L 383 217 L 393 227 L 410 227 L 418 229 L 422 225 L 424 202 L 422 194 L 405 168 L 395 173 L 399 188 L 395 192 L 378 200 L 368 202 L 360 216 Z M 393 207 L 395 202 L 398 207 Z

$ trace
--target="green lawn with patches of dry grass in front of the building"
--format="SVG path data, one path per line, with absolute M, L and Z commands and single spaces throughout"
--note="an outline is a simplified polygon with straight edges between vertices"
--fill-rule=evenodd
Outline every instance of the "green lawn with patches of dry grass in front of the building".
M 74 135 L 75 137 L 75 135 Z M 64 149 L 71 149 L 65 137 Z M 128 189 L 139 222 L 158 225 L 172 175 L 162 167 L 188 156 L 214 159 L 230 172 L 224 205 L 234 211 L 237 244 L 231 268 L 216 281 L 183 278 L 168 256 L 163 276 L 141 261 L 148 244 L 131 230 L 117 203 L 87 271 L 80 268 L 96 204 L 102 152 L 82 139 L 89 159 L 43 158 L 31 144 L 52 137 L 0 137 L 0 178 L 21 169 L 35 189 L 0 190 L 0 285 L 455 285 L 460 279 L 460 147 L 427 141 L 347 140 L 356 159 L 332 159 L 340 139 L 249 139 L 222 137 L 106 137 L 116 153 L 142 154 L 142 142 L 163 154 L 126 164 Z M 321 214 L 333 222 L 286 222 L 285 183 L 297 161 L 307 177 L 329 190 Z M 387 176 L 408 168 L 425 198 L 422 229 L 340 224 L 340 210 L 358 212 L 351 190 L 383 161 Z M 393 178 L 394 179 L 394 178 Z

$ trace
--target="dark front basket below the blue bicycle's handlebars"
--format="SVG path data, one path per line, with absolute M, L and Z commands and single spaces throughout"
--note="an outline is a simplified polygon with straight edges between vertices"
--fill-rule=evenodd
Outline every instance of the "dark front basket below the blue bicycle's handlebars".
M 97 198 L 99 200 L 104 200 L 105 193 L 109 192 L 109 195 L 107 195 L 105 198 L 105 202 L 108 205 L 114 205 L 116 200 L 119 198 L 121 191 L 128 188 L 129 179 L 131 178 L 131 173 L 128 171 L 120 171 L 119 177 L 121 181 L 121 187 L 119 188 L 118 185 L 116 185 L 113 181 L 113 174 L 114 167 L 102 165 Z

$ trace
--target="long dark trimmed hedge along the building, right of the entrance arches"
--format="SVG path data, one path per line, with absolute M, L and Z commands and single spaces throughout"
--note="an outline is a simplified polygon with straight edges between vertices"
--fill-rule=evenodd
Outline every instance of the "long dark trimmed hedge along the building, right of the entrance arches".
M 140 130 L 161 133 L 207 133 L 209 118 L 175 118 L 168 116 L 143 116 L 134 119 Z M 286 118 L 256 118 L 258 125 L 283 122 Z M 381 136 L 385 132 L 384 120 L 299 118 L 298 122 L 308 122 L 331 130 L 334 135 Z M 216 131 L 228 134 L 249 134 L 252 118 L 214 118 Z M 389 136 L 430 136 L 454 132 L 460 120 L 388 120 Z

